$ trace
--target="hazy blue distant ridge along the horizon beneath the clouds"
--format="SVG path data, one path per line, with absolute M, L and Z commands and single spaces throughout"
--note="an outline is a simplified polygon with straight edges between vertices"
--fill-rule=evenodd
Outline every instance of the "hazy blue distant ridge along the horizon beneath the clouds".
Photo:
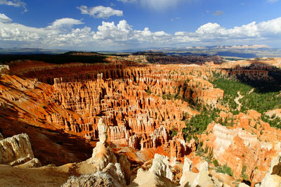
M 0 54 L 61 54 L 73 50 L 63 49 L 36 49 L 36 48 L 0 48 Z M 183 48 L 142 48 L 120 51 L 95 51 L 99 53 L 137 53 L 154 52 L 172 56 L 225 56 L 237 58 L 281 57 L 281 49 L 266 45 L 234 45 L 234 46 L 188 46 Z M 83 51 L 91 53 L 93 51 Z

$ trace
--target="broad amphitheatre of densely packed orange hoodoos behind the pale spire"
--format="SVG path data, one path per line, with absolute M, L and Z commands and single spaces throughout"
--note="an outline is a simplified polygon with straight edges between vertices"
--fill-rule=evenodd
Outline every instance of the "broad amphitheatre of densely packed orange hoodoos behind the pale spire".
M 51 65 L 18 61 L 11 64 L 13 73 L 20 74 L 22 70 L 21 75 L 38 79 L 4 75 L 0 98 L 19 111 L 22 121 L 89 140 L 98 138 L 98 119 L 105 115 L 109 141 L 137 149 L 167 144 L 171 139 L 167 134 L 172 129 L 181 131 L 185 127 L 183 119 L 197 114 L 189 107 L 190 99 L 215 106 L 221 98 L 221 93 L 216 94 L 206 80 L 171 72 L 181 67 L 160 66 L 155 70 L 154 66 L 124 64 Z M 74 72 L 68 72 L 70 69 Z M 46 75 L 47 70 L 52 74 Z M 66 71 L 67 76 L 54 77 L 58 70 Z M 169 94 L 176 99 L 167 99 Z M 162 131 L 162 126 L 166 129 L 164 134 L 157 132 Z

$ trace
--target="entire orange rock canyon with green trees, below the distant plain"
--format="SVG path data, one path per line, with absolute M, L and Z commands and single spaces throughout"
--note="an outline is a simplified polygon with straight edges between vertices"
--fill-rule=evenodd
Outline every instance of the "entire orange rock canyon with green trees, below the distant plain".
M 1 65 L 0 186 L 280 185 L 281 58 L 67 55 Z

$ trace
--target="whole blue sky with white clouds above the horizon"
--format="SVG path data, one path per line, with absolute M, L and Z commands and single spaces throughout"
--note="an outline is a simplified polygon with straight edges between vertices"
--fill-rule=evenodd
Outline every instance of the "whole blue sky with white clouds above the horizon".
M 0 0 L 0 48 L 281 48 L 281 0 Z

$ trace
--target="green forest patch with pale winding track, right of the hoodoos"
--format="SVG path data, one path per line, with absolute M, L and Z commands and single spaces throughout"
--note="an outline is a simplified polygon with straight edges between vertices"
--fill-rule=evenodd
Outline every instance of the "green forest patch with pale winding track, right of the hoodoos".
M 270 119 L 270 117 L 265 115 L 265 112 L 268 110 L 281 108 L 280 91 L 261 92 L 235 79 L 223 77 L 215 72 L 213 74 L 214 79 L 211 83 L 224 91 L 224 97 L 221 103 L 228 106 L 234 115 L 250 109 L 256 110 L 261 113 L 264 122 L 268 122 L 271 127 L 281 129 L 281 120 L 279 117 L 273 116 Z M 237 103 L 234 101 L 238 97 L 238 91 L 243 96 L 239 101 L 242 104 L 240 111 L 237 110 Z

